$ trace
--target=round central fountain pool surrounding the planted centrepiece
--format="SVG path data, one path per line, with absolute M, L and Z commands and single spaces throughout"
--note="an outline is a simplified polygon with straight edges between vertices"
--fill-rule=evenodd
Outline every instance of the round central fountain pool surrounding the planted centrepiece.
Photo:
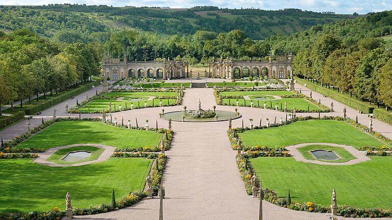
M 216 115 L 218 116 L 217 121 L 227 121 L 229 117 L 232 119 L 236 119 L 241 117 L 241 115 L 237 116 L 235 112 L 229 111 L 215 111 Z M 169 120 L 171 118 L 172 121 L 182 121 L 182 117 L 184 116 L 185 111 L 177 111 L 177 112 L 169 112 L 162 114 L 162 119 Z M 185 122 L 214 122 L 216 118 L 185 118 Z

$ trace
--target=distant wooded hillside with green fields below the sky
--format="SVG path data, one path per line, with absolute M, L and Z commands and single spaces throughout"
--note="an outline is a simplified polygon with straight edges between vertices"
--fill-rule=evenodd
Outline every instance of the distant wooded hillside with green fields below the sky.
M 139 29 L 165 35 L 217 33 L 243 30 L 247 37 L 265 39 L 290 35 L 312 25 L 331 23 L 355 15 L 300 9 L 135 8 L 86 5 L 0 6 L 0 30 L 28 28 L 60 41 L 104 41 L 110 30 Z M 61 31 L 60 31 L 61 30 Z

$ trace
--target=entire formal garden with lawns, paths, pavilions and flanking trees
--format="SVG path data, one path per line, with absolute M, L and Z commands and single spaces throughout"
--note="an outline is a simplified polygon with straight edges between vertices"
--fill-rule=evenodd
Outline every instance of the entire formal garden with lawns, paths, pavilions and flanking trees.
M 382 87 L 392 60 L 375 38 L 350 54 L 323 35 L 296 55 L 267 48 L 201 64 L 181 54 L 133 59 L 112 42 L 107 52 L 51 45 L 23 30 L 4 39 L 4 51 L 19 41 L 53 51 L 29 64 L 7 56 L 37 48 L 0 56 L 0 219 L 392 217 Z M 336 48 L 317 60 L 325 44 Z M 382 65 L 336 65 L 348 56 Z M 379 68 L 379 84 L 337 80 L 353 66 L 356 84 L 357 72 Z

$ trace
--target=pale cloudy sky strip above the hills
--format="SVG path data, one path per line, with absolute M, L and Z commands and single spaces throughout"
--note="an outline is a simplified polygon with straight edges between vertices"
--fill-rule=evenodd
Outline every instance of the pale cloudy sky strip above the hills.
M 392 10 L 392 0 L 2 0 L 1 5 L 47 5 L 47 4 L 86 4 L 108 6 L 148 6 L 191 8 L 194 6 L 217 6 L 219 8 L 259 8 L 279 10 L 299 8 L 302 10 L 323 12 L 333 11 L 337 14 L 366 14 Z

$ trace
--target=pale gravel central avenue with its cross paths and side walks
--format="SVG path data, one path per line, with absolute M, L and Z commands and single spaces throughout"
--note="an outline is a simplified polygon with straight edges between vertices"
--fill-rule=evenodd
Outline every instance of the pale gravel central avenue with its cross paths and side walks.
M 212 81 L 217 79 L 208 80 Z M 296 87 L 296 89 L 301 88 L 302 92 L 308 95 L 308 89 L 300 85 L 296 85 Z M 88 93 L 94 94 L 96 89 L 94 88 L 88 91 Z M 329 106 L 332 101 L 314 91 L 312 95 L 316 100 L 320 98 L 321 102 L 326 106 Z M 83 97 L 86 97 L 85 94 L 81 94 L 75 97 L 74 100 L 67 100 L 66 102 L 70 106 L 75 105 L 76 99 L 79 98 L 79 101 L 81 101 Z M 157 120 L 159 127 L 167 128 L 167 121 L 159 118 L 159 113 L 162 112 L 162 108 L 165 109 L 165 112 L 182 111 L 183 106 L 187 106 L 188 109 L 196 109 L 199 98 L 202 107 L 205 109 L 212 108 L 213 105 L 216 105 L 212 89 L 186 89 L 181 106 L 139 108 L 114 113 L 113 117 L 117 117 L 117 119 L 124 118 L 124 121 L 131 120 L 132 124 L 135 124 L 136 118 L 140 122 L 149 119 L 152 124 Z M 322 116 L 342 116 L 344 105 L 337 101 L 333 102 L 336 112 L 322 113 Z M 42 113 L 44 120 L 46 120 L 46 117 L 50 118 L 54 108 L 58 109 L 58 117 L 79 117 L 79 115 L 65 113 L 64 106 L 65 102 L 44 111 Z M 266 118 L 284 118 L 286 116 L 283 112 L 271 109 L 216 106 L 216 110 L 222 111 L 234 111 L 234 108 L 238 108 L 238 112 L 242 117 L 233 120 L 233 127 L 240 127 L 242 120 L 246 123 L 244 126 L 248 126 L 250 118 L 255 119 L 257 122 L 260 118 L 265 121 Z M 317 113 L 298 113 L 297 115 L 318 116 Z M 347 115 L 349 118 L 355 118 L 358 115 L 358 121 L 363 125 L 369 123 L 369 118 L 366 115 L 358 114 L 355 109 L 350 107 L 347 107 Z M 82 117 L 101 117 L 101 114 L 82 114 Z M 33 118 L 32 126 L 39 125 L 40 121 L 41 116 Z M 166 193 L 166 197 L 163 200 L 164 218 L 207 220 L 257 219 L 259 201 L 248 196 L 244 189 L 235 160 L 236 151 L 232 150 L 226 134 L 228 122 L 192 123 L 173 121 L 172 127 L 175 135 L 170 150 L 166 151 L 168 160 L 163 174 L 163 186 Z M 373 128 L 386 137 L 392 137 L 392 126 L 390 125 L 374 119 Z M 0 135 L 5 140 L 9 140 L 15 135 L 20 135 L 26 131 L 26 121 L 22 121 L 0 131 Z M 159 199 L 144 199 L 128 208 L 96 215 L 75 216 L 75 218 L 157 219 L 159 216 L 158 208 Z M 263 211 L 264 220 L 329 219 L 329 215 L 326 213 L 295 211 L 265 201 L 263 201 Z M 351 218 L 339 217 L 339 219 Z

